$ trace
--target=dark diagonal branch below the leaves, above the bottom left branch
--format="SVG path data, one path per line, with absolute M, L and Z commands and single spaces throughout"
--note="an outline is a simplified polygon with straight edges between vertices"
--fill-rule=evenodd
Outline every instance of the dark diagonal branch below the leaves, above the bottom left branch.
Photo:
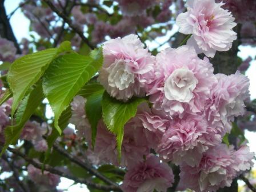
M 74 155 L 67 153 L 65 150 L 63 150 L 61 147 L 59 147 L 56 143 L 53 144 L 53 148 L 55 150 L 57 150 L 59 153 L 61 153 L 62 155 L 64 155 L 65 157 L 67 157 L 71 162 L 83 167 L 83 169 L 86 169 L 87 171 L 89 171 L 89 173 L 95 175 L 96 177 L 98 177 L 99 179 L 104 181 L 105 183 L 113 185 L 115 187 L 118 187 L 117 183 L 111 181 L 109 178 L 107 178 L 104 175 L 102 175 L 101 173 L 99 173 L 89 163 L 83 162 L 80 159 L 78 159 L 77 157 L 75 157 Z M 118 189 L 119 189 L 119 187 L 118 187 Z

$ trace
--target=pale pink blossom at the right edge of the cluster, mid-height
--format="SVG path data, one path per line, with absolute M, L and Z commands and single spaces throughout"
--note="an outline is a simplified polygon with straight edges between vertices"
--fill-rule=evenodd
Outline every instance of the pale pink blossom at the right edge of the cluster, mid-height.
M 229 133 L 234 117 L 245 113 L 244 101 L 249 98 L 249 79 L 239 72 L 233 75 L 217 74 L 218 82 L 211 89 L 205 115 L 211 127 L 221 135 Z

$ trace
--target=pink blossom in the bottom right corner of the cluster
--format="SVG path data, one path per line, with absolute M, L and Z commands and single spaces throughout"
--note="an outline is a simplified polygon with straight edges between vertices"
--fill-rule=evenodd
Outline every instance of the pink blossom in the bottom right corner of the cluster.
M 241 171 L 250 169 L 253 157 L 254 153 L 250 153 L 247 146 L 242 146 L 238 151 L 225 144 L 214 146 L 203 154 L 199 166 L 190 167 L 185 163 L 180 166 L 178 190 L 189 188 L 207 192 L 229 187 Z

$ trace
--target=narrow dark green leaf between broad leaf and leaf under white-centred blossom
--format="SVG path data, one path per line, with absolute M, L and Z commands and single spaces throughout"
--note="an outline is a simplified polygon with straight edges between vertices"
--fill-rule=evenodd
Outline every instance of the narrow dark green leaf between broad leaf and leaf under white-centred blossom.
M 104 93 L 104 90 L 100 90 L 91 94 L 87 98 L 87 102 L 85 106 L 86 115 L 91 125 L 91 141 L 92 141 L 93 147 L 95 144 L 95 138 L 97 134 L 97 125 L 98 125 L 99 119 L 101 119 L 102 117 L 101 101 L 102 101 L 103 93 Z

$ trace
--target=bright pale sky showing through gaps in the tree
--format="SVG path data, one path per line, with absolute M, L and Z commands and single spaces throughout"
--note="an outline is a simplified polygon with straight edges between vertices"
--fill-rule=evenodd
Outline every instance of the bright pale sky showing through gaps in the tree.
M 16 7 L 18 7 L 19 2 L 21 0 L 5 0 L 5 7 L 7 14 L 11 13 Z M 18 39 L 18 42 L 21 41 L 23 37 L 30 38 L 29 37 L 29 20 L 21 13 L 21 10 L 17 10 L 15 14 L 11 17 L 10 19 L 11 26 L 13 26 L 13 31 L 15 34 L 15 37 Z M 169 37 L 177 31 L 177 26 L 174 25 L 173 30 L 169 31 L 165 37 L 160 37 L 155 39 L 158 43 L 163 43 Z M 153 49 L 154 47 L 158 47 L 158 43 L 153 42 L 153 43 L 147 43 L 147 45 L 150 47 L 150 49 Z M 163 45 L 161 49 L 164 49 L 165 47 L 168 47 L 169 45 L 166 43 L 166 45 Z M 251 56 L 252 58 L 256 57 L 256 47 L 252 48 L 250 46 L 240 46 L 239 47 L 239 57 L 242 59 L 246 59 L 247 57 Z M 250 94 L 251 94 L 251 99 L 256 98 L 256 61 L 254 60 L 251 62 L 251 65 L 249 69 L 246 72 L 247 77 L 250 79 Z M 50 111 L 49 111 L 49 114 Z M 256 153 L 256 133 L 246 131 L 245 137 L 249 141 L 249 146 L 250 150 L 254 151 Z M 61 183 L 58 186 L 58 189 L 67 189 L 67 191 L 75 191 L 75 192 L 86 192 L 89 191 L 86 189 L 85 185 L 73 185 L 73 181 L 62 178 Z

